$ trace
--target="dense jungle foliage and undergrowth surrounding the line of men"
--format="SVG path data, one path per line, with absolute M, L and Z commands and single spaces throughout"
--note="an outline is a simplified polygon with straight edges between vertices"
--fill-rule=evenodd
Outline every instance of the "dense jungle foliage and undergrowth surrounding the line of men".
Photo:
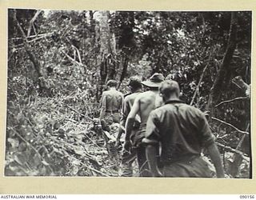
M 8 10 L 7 176 L 118 176 L 94 118 L 107 80 L 162 73 L 251 178 L 251 12 Z M 239 81 L 234 80 L 240 77 Z M 207 155 L 207 153 L 206 153 Z M 135 174 L 136 175 L 136 174 Z

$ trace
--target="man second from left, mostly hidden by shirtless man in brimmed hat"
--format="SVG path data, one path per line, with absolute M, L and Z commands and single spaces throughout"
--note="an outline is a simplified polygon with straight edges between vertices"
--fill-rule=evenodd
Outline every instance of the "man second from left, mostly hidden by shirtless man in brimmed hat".
M 121 135 L 125 132 L 126 118 L 130 113 L 130 110 L 134 104 L 134 100 L 136 97 L 138 97 L 138 94 L 142 93 L 141 78 L 138 78 L 138 76 L 130 77 L 128 86 L 130 87 L 131 94 L 126 95 L 124 99 L 124 103 L 122 106 L 122 118 L 119 125 L 116 146 L 120 145 Z M 140 121 L 140 118 L 138 117 L 138 115 L 136 115 L 134 120 L 134 126 L 133 129 L 131 130 L 130 138 L 134 138 L 134 134 L 136 134 L 136 132 L 138 131 Z M 131 150 L 131 152 L 129 152 L 126 149 L 123 150 L 121 176 L 130 177 L 133 175 L 132 163 L 134 162 L 135 158 L 136 152 L 134 150 Z

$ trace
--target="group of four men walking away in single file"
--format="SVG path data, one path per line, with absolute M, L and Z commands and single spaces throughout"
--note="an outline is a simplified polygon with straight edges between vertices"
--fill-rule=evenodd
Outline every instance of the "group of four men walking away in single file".
M 167 79 L 167 78 L 166 78 Z M 202 158 L 207 150 L 216 177 L 224 170 L 214 134 L 202 111 L 180 100 L 178 82 L 155 73 L 148 80 L 131 77 L 130 94 L 117 90 L 117 82 L 106 83 L 100 102 L 101 122 L 118 122 L 116 146 L 122 146 L 122 176 L 133 176 L 137 159 L 141 177 L 213 177 Z M 146 91 L 142 91 L 143 90 Z

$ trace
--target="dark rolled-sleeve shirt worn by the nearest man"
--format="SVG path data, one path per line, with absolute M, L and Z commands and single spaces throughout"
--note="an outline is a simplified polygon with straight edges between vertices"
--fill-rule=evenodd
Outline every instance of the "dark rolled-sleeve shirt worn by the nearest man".
M 214 139 L 202 111 L 176 100 L 150 113 L 142 142 L 161 142 L 162 162 L 176 162 L 199 155 L 202 147 L 209 146 Z

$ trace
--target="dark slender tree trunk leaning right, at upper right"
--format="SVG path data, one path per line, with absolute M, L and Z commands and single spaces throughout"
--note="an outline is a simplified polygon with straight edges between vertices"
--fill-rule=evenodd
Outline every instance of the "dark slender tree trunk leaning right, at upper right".
M 210 89 L 210 95 L 206 106 L 206 110 L 210 110 L 210 113 L 212 113 L 214 105 L 216 104 L 216 102 L 218 102 L 218 98 L 220 97 L 222 91 L 222 85 L 227 73 L 230 73 L 230 62 L 236 48 L 236 37 L 238 29 L 237 23 L 237 14 L 236 12 L 232 12 L 230 21 L 230 35 L 226 47 L 226 53 L 224 55 L 224 58 L 222 59 L 220 69 L 218 70 L 218 73 L 214 80 L 214 85 Z

